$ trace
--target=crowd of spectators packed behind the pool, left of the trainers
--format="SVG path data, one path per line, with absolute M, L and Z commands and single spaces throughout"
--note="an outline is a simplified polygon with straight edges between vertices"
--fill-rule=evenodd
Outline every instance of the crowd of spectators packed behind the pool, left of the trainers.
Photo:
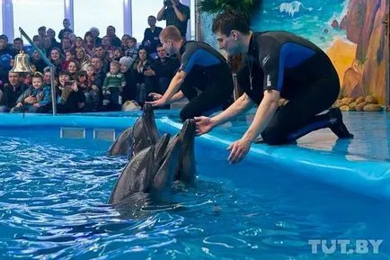
M 187 6 L 179 0 L 168 0 L 157 19 L 176 24 L 185 36 L 190 17 Z M 32 40 L 55 67 L 58 112 L 93 112 L 120 110 L 122 103 L 143 104 L 152 92 L 164 94 L 180 66 L 178 58 L 169 58 L 159 40 L 163 30 L 149 15 L 149 27 L 139 42 L 129 34 L 120 39 L 109 25 L 106 35 L 92 27 L 84 37 L 76 36 L 70 21 L 63 20 L 58 32 L 40 26 Z M 10 72 L 13 58 L 21 50 L 30 56 L 29 73 Z M 51 112 L 50 68 L 38 49 L 24 46 L 22 38 L 8 43 L 0 35 L 0 112 Z

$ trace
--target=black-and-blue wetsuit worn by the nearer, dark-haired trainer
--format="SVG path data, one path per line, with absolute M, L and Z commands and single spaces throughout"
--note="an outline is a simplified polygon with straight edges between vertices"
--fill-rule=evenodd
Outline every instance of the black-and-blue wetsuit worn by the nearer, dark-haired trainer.
M 324 51 L 287 31 L 253 33 L 237 77 L 255 103 L 261 103 L 267 90 L 277 90 L 289 101 L 261 133 L 266 143 L 275 145 L 326 127 L 329 121 L 315 115 L 329 109 L 340 92 L 339 76 Z

